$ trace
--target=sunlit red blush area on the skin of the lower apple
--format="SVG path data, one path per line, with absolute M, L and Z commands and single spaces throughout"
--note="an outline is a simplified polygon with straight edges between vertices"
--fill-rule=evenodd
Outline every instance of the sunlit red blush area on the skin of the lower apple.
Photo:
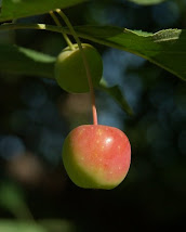
M 121 182 L 131 163 L 131 146 L 119 129 L 84 125 L 72 130 L 70 146 L 74 159 L 83 171 L 105 182 Z

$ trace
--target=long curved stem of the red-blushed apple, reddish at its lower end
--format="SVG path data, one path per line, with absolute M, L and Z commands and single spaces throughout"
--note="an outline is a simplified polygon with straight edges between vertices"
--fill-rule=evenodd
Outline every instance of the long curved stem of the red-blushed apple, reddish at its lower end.
M 92 83 L 92 77 L 91 77 L 91 72 L 90 72 L 89 63 L 88 63 L 88 60 L 85 57 L 85 54 L 84 54 L 81 41 L 80 41 L 78 35 L 76 34 L 76 31 L 75 31 L 71 23 L 69 22 L 68 17 L 61 11 L 61 9 L 56 9 L 55 11 L 61 15 L 61 17 L 64 20 L 64 22 L 68 26 L 68 28 L 71 31 L 71 35 L 74 36 L 76 42 L 78 43 L 79 50 L 80 50 L 80 52 L 82 54 L 82 60 L 83 60 L 84 67 L 85 67 L 85 73 L 87 73 L 89 88 L 90 88 L 90 94 L 91 94 L 91 101 L 92 101 L 93 124 L 97 125 L 97 111 L 96 111 L 96 106 L 95 106 L 94 87 L 93 87 L 93 83 Z

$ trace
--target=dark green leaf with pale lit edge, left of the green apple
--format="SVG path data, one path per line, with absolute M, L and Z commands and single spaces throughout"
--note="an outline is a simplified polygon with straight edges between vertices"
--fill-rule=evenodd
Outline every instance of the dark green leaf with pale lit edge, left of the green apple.
M 53 77 L 55 57 L 12 44 L 0 44 L 0 72 Z

